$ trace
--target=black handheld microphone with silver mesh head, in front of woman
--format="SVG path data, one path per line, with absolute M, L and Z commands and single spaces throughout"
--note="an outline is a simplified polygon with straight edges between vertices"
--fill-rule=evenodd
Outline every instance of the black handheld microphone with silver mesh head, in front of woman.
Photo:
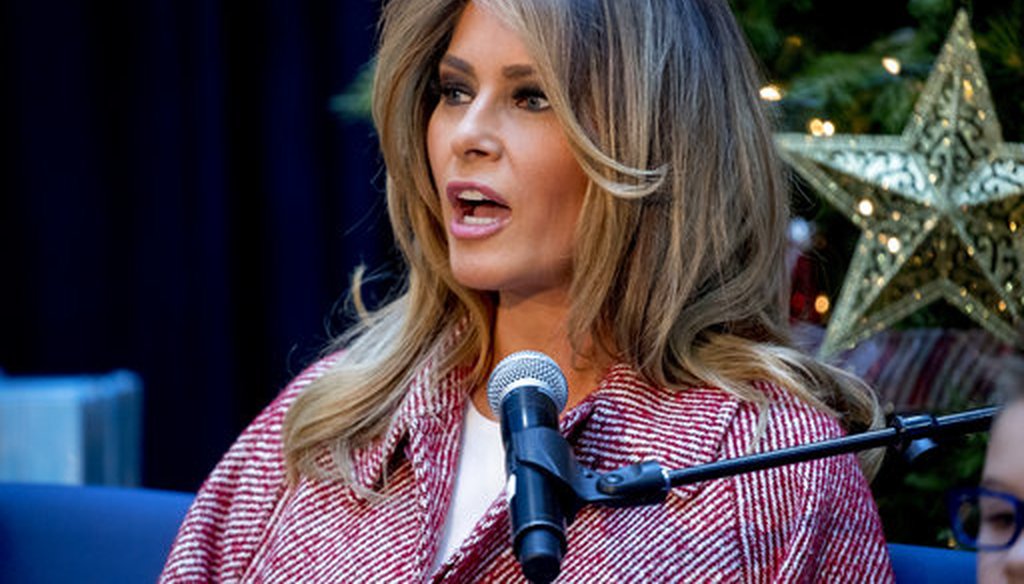
M 487 380 L 487 402 L 501 421 L 508 473 L 512 545 L 523 576 L 548 583 L 561 570 L 565 552 L 565 511 L 556 476 L 523 461 L 517 453 L 562 448 L 558 414 L 568 401 L 565 377 L 543 352 L 522 350 L 501 361 Z M 556 436 L 552 436 L 552 432 Z

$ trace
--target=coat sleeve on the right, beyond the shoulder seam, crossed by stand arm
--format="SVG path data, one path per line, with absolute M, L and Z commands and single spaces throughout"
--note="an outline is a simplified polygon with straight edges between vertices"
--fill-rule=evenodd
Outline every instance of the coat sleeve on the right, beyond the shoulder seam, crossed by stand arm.
M 835 416 L 764 383 L 765 406 L 743 403 L 724 458 L 845 434 Z M 892 578 L 878 508 L 852 454 L 737 474 L 731 479 L 749 570 L 781 580 L 885 582 Z M 768 545 L 766 542 L 771 542 Z

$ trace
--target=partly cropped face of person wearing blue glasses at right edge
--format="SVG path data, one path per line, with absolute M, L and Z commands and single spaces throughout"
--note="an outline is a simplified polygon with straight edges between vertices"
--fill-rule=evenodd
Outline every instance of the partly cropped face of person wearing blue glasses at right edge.
M 981 475 L 982 487 L 1024 499 L 1022 445 L 1024 400 L 1019 399 L 1002 411 L 992 426 Z M 978 552 L 978 582 L 1024 582 L 1024 535 L 1018 537 L 1010 549 Z

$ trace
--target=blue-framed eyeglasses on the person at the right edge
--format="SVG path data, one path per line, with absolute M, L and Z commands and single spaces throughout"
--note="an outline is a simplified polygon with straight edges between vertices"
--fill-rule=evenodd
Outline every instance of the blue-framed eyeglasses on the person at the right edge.
M 947 499 L 957 543 L 978 551 L 1012 547 L 1024 528 L 1024 501 L 983 487 L 957 489 Z

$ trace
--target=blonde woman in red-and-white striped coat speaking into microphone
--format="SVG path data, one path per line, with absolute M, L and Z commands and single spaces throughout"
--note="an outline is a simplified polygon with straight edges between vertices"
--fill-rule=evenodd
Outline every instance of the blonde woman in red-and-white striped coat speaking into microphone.
M 164 581 L 521 578 L 484 388 L 519 349 L 565 373 L 599 470 L 874 423 L 786 343 L 757 87 L 719 0 L 389 2 L 374 116 L 406 290 L 240 437 Z M 567 537 L 563 581 L 891 579 L 853 457 L 587 507 Z

